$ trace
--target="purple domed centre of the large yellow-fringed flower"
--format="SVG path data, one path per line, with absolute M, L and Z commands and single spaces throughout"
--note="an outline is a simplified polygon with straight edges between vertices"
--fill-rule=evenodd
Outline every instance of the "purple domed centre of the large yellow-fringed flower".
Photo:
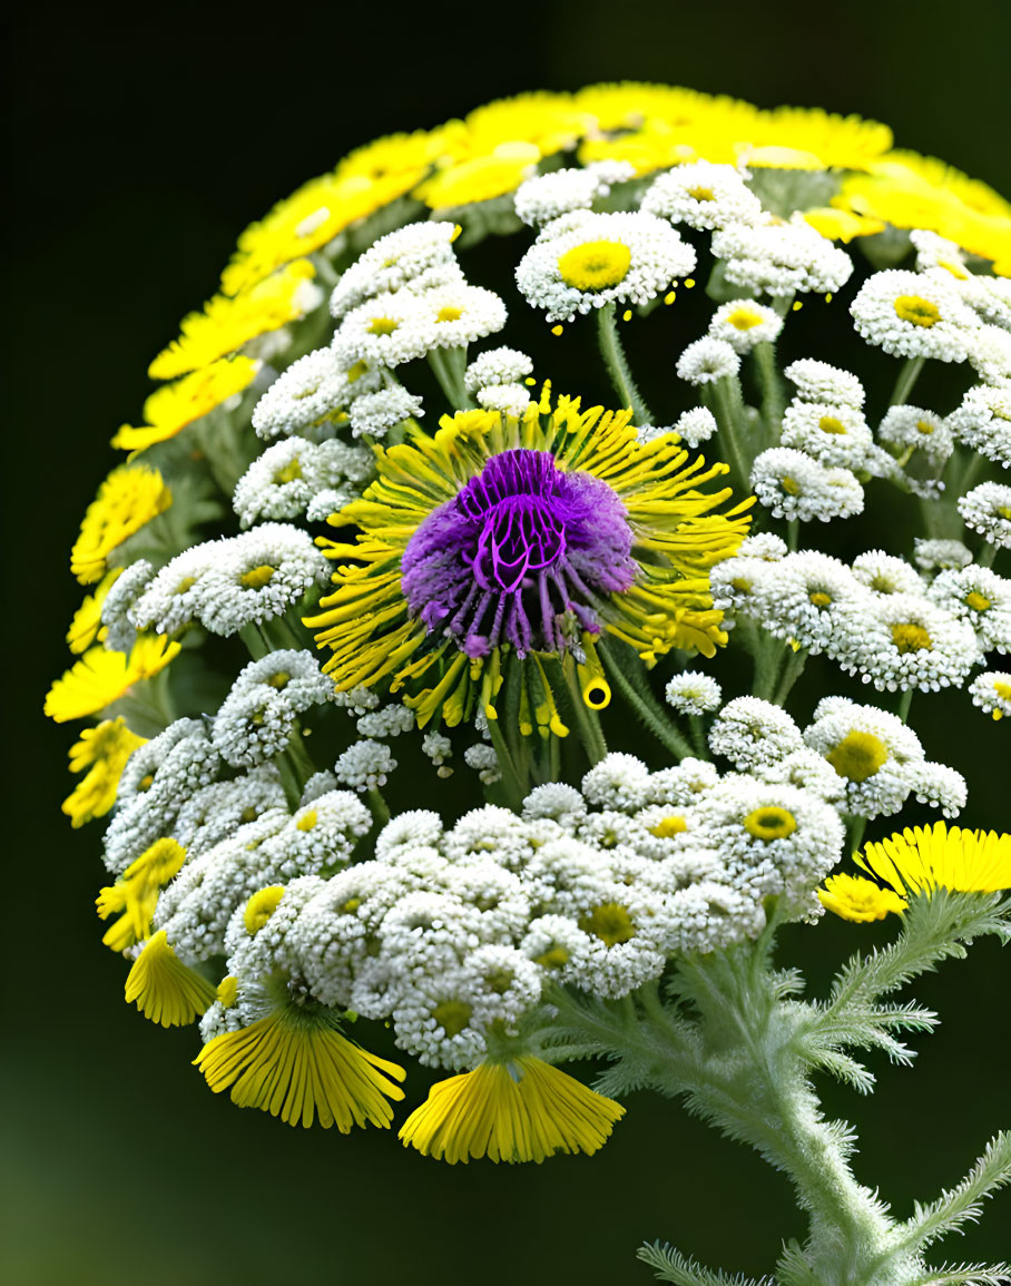
M 511 643 L 562 652 L 599 633 L 602 598 L 635 579 L 632 529 L 611 487 L 551 451 L 493 455 L 404 550 L 408 608 L 468 656 Z

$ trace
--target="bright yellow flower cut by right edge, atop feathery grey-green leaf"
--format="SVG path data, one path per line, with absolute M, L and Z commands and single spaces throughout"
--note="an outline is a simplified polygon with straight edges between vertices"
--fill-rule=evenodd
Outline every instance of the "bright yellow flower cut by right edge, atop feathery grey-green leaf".
M 997 892 L 1011 889 L 1011 835 L 963 831 L 944 822 L 907 827 L 868 844 L 854 860 L 904 898 L 907 892 Z

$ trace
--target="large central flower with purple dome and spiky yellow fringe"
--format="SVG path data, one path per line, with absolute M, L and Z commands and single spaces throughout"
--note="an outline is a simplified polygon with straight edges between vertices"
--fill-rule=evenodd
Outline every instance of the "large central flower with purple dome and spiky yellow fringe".
M 606 705 L 602 631 L 647 665 L 725 642 L 707 572 L 741 543 L 750 502 L 714 512 L 729 489 L 701 489 L 727 467 L 689 463 L 674 435 L 639 442 L 630 412 L 567 397 L 552 409 L 545 387 L 518 418 L 446 417 L 433 437 L 417 430 L 377 449 L 376 467 L 363 499 L 331 518 L 360 535 L 325 543 L 337 589 L 306 621 L 333 652 L 324 669 L 338 691 L 406 687 L 419 725 L 441 709 L 451 727 L 478 696 L 495 718 L 515 657 L 530 662 L 521 729 L 535 718 L 544 736 L 563 734 L 554 662 L 589 705 Z

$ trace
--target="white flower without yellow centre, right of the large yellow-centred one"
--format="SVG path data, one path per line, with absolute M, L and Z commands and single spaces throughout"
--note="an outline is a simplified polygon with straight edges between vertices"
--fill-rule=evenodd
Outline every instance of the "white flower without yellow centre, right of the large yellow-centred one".
M 797 215 L 790 222 L 729 225 L 713 234 L 713 253 L 724 260 L 728 282 L 773 296 L 833 293 L 853 273 L 849 255 Z

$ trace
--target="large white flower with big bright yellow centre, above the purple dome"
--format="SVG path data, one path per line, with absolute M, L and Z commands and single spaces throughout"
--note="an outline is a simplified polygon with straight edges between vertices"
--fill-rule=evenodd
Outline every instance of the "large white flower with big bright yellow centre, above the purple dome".
M 691 246 L 662 219 L 576 211 L 540 233 L 516 269 L 526 301 L 548 322 L 605 303 L 646 303 L 695 267 Z

